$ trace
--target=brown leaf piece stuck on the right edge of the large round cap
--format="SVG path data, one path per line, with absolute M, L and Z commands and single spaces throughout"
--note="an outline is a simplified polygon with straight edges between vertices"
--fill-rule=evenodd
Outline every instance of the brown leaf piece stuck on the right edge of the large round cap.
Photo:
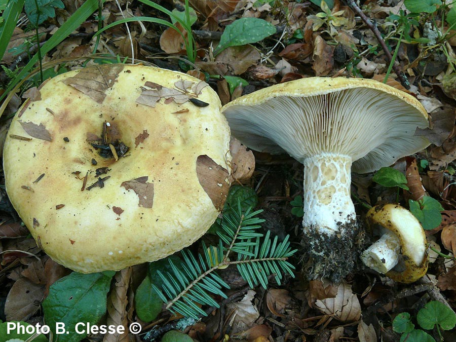
M 200 185 L 214 207 L 221 211 L 230 189 L 230 183 L 227 181 L 228 171 L 206 155 L 198 157 L 196 170 Z

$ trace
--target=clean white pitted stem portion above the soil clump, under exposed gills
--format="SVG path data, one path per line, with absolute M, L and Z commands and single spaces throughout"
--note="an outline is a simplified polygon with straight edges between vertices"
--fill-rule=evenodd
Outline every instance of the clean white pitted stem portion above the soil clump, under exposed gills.
M 340 225 L 356 220 L 350 198 L 352 158 L 324 153 L 304 160 L 304 230 L 333 235 Z

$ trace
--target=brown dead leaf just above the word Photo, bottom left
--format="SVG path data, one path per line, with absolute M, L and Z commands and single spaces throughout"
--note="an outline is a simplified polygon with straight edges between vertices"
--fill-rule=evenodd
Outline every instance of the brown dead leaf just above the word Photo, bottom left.
M 19 278 L 13 284 L 5 303 L 5 316 L 8 321 L 26 321 L 33 316 L 44 298 L 44 285 Z

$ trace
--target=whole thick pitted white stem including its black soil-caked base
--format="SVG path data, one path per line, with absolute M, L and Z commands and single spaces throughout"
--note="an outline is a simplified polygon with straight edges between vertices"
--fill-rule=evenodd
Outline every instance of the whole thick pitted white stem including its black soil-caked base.
M 350 198 L 350 156 L 323 153 L 304 164 L 303 247 L 309 256 L 309 279 L 338 282 L 353 269 L 357 252 L 356 213 Z

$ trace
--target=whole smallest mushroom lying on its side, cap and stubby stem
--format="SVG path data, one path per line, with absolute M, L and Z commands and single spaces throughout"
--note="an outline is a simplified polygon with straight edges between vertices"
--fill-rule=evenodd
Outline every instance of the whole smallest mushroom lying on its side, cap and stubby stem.
M 379 237 L 361 254 L 364 264 L 401 283 L 412 283 L 428 270 L 426 234 L 407 209 L 378 205 L 366 214 L 372 234 Z

